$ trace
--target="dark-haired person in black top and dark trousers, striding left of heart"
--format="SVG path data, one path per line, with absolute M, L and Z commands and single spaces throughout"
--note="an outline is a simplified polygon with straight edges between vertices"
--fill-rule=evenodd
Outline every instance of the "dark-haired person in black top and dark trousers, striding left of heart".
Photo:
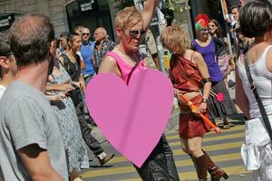
M 104 165 L 114 157 L 114 154 L 106 154 L 103 151 L 101 144 L 98 140 L 92 137 L 92 129 L 88 126 L 85 115 L 83 93 L 80 90 L 84 89 L 83 75 L 80 69 L 80 57 L 77 52 L 81 48 L 81 36 L 78 33 L 70 33 L 67 37 L 67 52 L 63 53 L 59 58 L 62 62 L 65 71 L 71 76 L 72 84 L 75 87 L 72 93 L 73 104 L 77 111 L 80 127 L 82 130 L 83 138 L 87 146 L 92 150 L 93 154 L 99 160 L 101 165 Z

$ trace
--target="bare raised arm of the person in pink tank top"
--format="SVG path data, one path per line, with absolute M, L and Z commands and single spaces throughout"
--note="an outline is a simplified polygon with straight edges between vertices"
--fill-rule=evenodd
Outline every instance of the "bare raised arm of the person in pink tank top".
M 159 0 L 147 0 L 142 10 L 143 29 L 148 30 L 152 21 L 152 18 L 156 12 Z

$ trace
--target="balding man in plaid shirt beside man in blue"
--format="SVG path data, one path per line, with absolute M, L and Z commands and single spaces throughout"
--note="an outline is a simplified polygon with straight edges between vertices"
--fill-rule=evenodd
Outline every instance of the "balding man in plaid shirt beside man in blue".
M 102 57 L 115 46 L 115 43 L 108 39 L 108 34 L 105 28 L 99 27 L 94 31 L 95 46 L 93 49 L 93 62 L 96 71 L 102 62 Z

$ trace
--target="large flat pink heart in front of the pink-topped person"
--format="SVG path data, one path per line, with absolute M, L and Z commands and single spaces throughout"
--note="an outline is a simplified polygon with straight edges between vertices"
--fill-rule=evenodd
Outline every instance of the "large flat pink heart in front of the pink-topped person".
M 86 102 L 112 146 L 141 167 L 165 129 L 173 95 L 169 78 L 160 71 L 140 71 L 129 86 L 115 74 L 102 73 L 87 85 Z

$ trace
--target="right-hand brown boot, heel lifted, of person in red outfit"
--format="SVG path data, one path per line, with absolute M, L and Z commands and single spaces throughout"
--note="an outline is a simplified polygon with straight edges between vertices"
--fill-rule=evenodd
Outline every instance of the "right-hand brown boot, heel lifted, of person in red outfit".
M 226 174 L 226 172 L 222 168 L 215 165 L 215 163 L 210 159 L 205 151 L 203 152 L 207 156 L 207 169 L 209 171 L 211 181 L 219 181 L 221 177 L 224 177 L 225 180 L 227 180 L 228 175 Z

